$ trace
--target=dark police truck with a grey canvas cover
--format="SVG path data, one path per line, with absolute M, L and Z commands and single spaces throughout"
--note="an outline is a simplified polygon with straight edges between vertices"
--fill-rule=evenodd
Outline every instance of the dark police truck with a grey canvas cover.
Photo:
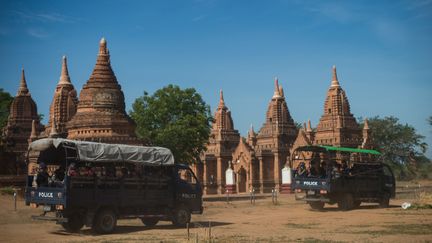
M 85 225 L 110 233 L 126 218 L 184 226 L 203 212 L 199 181 L 166 148 L 46 138 L 32 142 L 28 154 L 37 157 L 37 171 L 28 174 L 25 201 L 43 208 L 32 218 L 67 231 Z

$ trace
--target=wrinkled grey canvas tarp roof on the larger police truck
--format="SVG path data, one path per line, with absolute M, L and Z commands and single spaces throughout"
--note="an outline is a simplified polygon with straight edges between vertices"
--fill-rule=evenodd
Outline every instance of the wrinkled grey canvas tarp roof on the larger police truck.
M 84 162 L 133 162 L 149 165 L 172 165 L 174 156 L 167 148 L 106 144 L 76 141 L 62 138 L 44 138 L 32 142 L 29 150 L 43 151 L 61 144 L 75 147 L 80 161 Z

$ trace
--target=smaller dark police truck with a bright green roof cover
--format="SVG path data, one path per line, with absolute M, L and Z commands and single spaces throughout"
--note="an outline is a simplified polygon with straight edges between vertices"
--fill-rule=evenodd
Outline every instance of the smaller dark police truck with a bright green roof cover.
M 388 207 L 395 196 L 395 178 L 376 150 L 333 146 L 303 146 L 291 155 L 292 189 L 296 200 L 321 210 L 325 203 L 341 210 L 362 202 Z

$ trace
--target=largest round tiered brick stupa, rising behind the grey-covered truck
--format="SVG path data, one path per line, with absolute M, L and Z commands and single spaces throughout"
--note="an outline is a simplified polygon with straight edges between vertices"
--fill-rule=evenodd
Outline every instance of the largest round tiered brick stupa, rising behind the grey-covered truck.
M 142 144 L 135 123 L 125 112 L 124 95 L 111 68 L 107 42 L 101 39 L 96 65 L 84 84 L 68 138 L 105 143 Z

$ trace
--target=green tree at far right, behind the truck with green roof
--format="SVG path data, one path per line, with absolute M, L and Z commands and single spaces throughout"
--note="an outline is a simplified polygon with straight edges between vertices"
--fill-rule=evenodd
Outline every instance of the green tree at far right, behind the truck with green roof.
M 393 116 L 368 119 L 371 136 L 383 161 L 389 164 L 400 179 L 416 175 L 416 165 L 425 161 L 427 144 L 424 136 Z M 427 159 L 426 159 L 427 160 Z

